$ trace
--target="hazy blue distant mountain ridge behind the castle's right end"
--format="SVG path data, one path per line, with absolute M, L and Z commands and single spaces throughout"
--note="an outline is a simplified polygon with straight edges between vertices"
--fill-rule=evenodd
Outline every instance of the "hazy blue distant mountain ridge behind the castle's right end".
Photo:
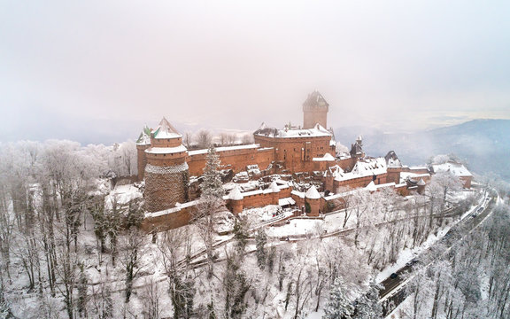
M 403 163 L 421 165 L 437 154 L 453 153 L 478 174 L 495 173 L 510 182 L 510 120 L 473 120 L 412 134 L 385 134 L 375 128 L 337 128 L 336 139 L 350 146 L 363 136 L 367 154 L 395 151 Z

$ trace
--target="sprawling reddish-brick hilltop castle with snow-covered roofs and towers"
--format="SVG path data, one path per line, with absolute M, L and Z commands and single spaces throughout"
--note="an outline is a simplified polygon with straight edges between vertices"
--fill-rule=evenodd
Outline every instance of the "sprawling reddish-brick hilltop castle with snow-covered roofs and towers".
M 368 158 L 359 136 L 351 152 L 336 154 L 333 130 L 327 128 L 329 105 L 318 91 L 303 104 L 303 127 L 269 128 L 264 123 L 253 133 L 255 144 L 216 148 L 221 166 L 231 175 L 255 167 L 251 178 L 269 177 L 266 187 L 243 191 L 236 185 L 225 196 L 228 209 L 238 214 L 251 206 L 295 206 L 317 216 L 338 202 L 347 188 L 378 191 L 390 187 L 406 195 L 423 191 L 427 167 L 405 167 L 394 152 L 384 158 Z M 145 180 L 147 230 L 172 229 L 189 222 L 197 204 L 192 181 L 203 174 L 208 150 L 189 151 L 182 135 L 164 118 L 158 127 L 145 128 L 136 141 L 138 178 Z M 244 173 L 244 175 L 247 175 Z M 282 176 L 287 178 L 282 178 Z M 294 177 L 306 175 L 307 190 Z M 197 189 L 197 188 L 195 188 Z

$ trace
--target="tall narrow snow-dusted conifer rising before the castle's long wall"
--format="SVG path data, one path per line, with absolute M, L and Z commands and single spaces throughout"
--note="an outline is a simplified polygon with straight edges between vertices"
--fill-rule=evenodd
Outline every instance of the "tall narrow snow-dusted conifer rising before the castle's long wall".
M 205 159 L 207 162 L 204 167 L 204 181 L 200 184 L 202 197 L 223 198 L 225 191 L 223 190 L 223 183 L 221 183 L 220 155 L 216 153 L 213 145 L 209 148 Z

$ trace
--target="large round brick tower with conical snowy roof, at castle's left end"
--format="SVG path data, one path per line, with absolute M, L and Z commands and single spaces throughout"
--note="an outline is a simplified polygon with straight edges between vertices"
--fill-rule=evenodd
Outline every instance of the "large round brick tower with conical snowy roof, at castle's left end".
M 145 203 L 158 212 L 185 202 L 188 193 L 188 150 L 182 135 L 165 118 L 151 131 L 151 147 L 145 150 Z

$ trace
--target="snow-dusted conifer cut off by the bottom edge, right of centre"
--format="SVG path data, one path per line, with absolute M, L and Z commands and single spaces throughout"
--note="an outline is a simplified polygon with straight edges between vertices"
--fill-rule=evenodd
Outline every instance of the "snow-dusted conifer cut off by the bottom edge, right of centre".
M 345 292 L 347 292 L 347 289 L 344 280 L 341 277 L 336 277 L 329 292 L 328 304 L 324 308 L 323 319 L 352 318 L 354 307 L 352 307 L 351 300 L 347 299 Z

